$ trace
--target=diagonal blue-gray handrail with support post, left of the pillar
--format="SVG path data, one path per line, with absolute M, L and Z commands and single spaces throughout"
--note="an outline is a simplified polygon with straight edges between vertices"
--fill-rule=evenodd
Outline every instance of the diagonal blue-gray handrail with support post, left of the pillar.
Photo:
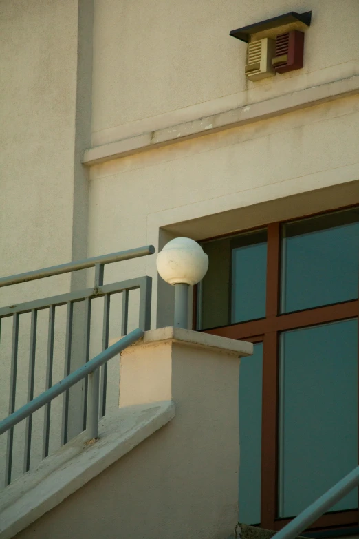
M 19 408 L 19 410 L 6 417 L 6 419 L 0 421 L 0 434 L 7 432 L 8 430 L 10 430 L 10 428 L 14 427 L 14 425 L 17 425 L 17 423 L 29 417 L 31 414 L 36 412 L 36 410 L 39 410 L 39 408 L 41 408 L 45 404 L 50 403 L 50 401 L 55 399 L 55 397 L 58 397 L 58 395 L 71 388 L 72 385 L 74 385 L 76 382 L 82 380 L 89 375 L 90 381 L 92 378 L 94 383 L 89 384 L 89 388 L 91 388 L 91 390 L 89 390 L 88 394 L 89 423 L 87 431 L 89 440 L 91 440 L 92 438 L 98 438 L 99 385 L 98 381 L 97 383 L 96 381 L 94 381 L 94 373 L 98 372 L 98 368 L 101 365 L 109 361 L 109 359 L 111 359 L 112 357 L 118 355 L 120 352 L 122 352 L 122 350 L 124 350 L 124 348 L 127 348 L 127 346 L 130 346 L 131 344 L 138 341 L 138 339 L 140 339 L 142 335 L 144 335 L 144 331 L 140 330 L 140 328 L 131 331 L 129 335 L 122 337 L 120 341 L 117 341 L 112 346 L 109 346 L 109 348 L 107 348 L 106 350 L 100 352 L 100 354 L 88 361 L 85 365 L 78 368 L 77 370 L 69 374 L 67 377 L 65 377 L 63 380 L 53 385 L 52 388 L 49 388 L 48 390 L 41 393 L 39 397 L 35 397 L 35 399 L 32 399 L 32 401 L 23 405 L 21 408 Z

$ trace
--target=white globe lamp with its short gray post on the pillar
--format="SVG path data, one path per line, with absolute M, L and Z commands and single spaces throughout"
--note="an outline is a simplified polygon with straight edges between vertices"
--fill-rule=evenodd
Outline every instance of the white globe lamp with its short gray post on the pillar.
M 158 253 L 158 273 L 175 286 L 175 327 L 188 329 L 188 290 L 203 279 L 207 269 L 208 256 L 189 237 L 176 237 Z

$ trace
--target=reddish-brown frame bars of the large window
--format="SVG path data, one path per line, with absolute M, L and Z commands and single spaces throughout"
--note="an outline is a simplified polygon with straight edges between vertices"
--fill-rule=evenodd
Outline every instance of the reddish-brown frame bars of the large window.
M 315 215 L 323 215 L 340 209 L 346 208 L 332 209 L 330 211 L 320 212 L 319 214 L 316 213 Z M 312 215 L 305 215 L 303 216 L 303 219 L 311 216 Z M 300 218 L 295 218 L 295 220 L 299 219 Z M 278 514 L 277 481 L 279 455 L 279 334 L 284 330 L 307 328 L 309 326 L 316 326 L 354 317 L 358 317 L 359 324 L 359 299 L 296 311 L 295 313 L 280 313 L 281 227 L 282 224 L 287 222 L 290 222 L 290 220 L 274 222 L 266 226 L 268 243 L 265 318 L 202 330 L 203 332 L 211 333 L 212 335 L 229 337 L 230 339 L 241 339 L 252 343 L 263 342 L 260 526 L 272 530 L 279 530 L 292 520 L 291 518 L 276 518 L 276 515 Z M 263 226 L 258 228 L 263 229 Z M 268 286 L 268 284 L 270 284 L 270 286 Z M 193 302 L 193 329 L 196 328 L 196 324 L 197 290 L 195 290 Z M 310 529 L 318 531 L 319 529 L 327 529 L 329 527 L 335 529 L 358 526 L 359 509 L 352 509 L 327 513 L 318 518 Z

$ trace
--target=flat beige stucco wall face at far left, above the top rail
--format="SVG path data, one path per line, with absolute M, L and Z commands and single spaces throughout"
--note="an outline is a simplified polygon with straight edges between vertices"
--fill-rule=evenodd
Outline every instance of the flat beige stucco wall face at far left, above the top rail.
M 71 260 L 77 4 L 1 2 L 1 275 Z

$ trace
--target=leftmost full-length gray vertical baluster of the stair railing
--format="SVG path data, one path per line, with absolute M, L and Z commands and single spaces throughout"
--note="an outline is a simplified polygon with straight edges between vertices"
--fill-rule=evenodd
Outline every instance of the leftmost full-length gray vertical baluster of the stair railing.
M 19 346 L 19 314 L 12 317 L 12 346 L 11 346 L 11 371 L 10 371 L 10 396 L 9 415 L 15 411 L 15 397 L 17 391 L 17 352 Z M 14 443 L 14 427 L 8 431 L 8 443 L 6 448 L 5 486 L 11 483 L 12 472 L 12 445 Z

